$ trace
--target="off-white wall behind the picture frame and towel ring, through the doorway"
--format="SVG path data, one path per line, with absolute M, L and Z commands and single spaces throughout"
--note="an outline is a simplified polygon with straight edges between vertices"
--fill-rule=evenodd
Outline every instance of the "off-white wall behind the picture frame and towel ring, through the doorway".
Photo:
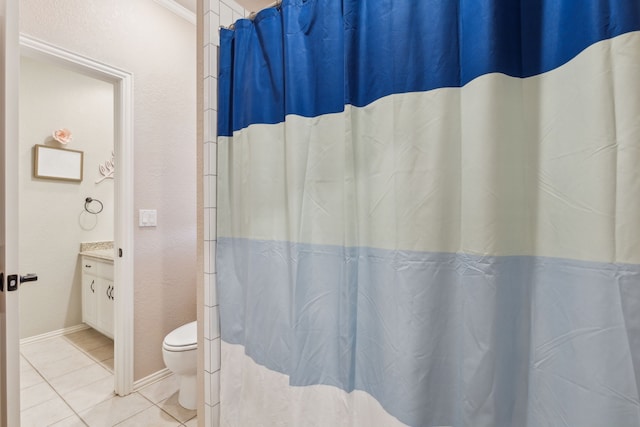
M 24 338 L 81 323 L 80 242 L 113 240 L 113 180 L 95 181 L 113 151 L 114 87 L 23 57 L 19 96 L 20 272 L 38 274 L 20 288 Z M 84 153 L 84 179 L 34 178 L 33 146 L 63 147 L 51 137 L 63 127 L 73 133 L 64 148 Z M 99 215 L 84 211 L 88 196 L 102 201 Z

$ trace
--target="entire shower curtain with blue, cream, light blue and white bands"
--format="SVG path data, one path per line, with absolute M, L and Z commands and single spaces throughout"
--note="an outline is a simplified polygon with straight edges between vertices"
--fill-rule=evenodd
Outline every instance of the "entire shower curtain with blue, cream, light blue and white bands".
M 640 426 L 640 2 L 220 34 L 222 426 Z

